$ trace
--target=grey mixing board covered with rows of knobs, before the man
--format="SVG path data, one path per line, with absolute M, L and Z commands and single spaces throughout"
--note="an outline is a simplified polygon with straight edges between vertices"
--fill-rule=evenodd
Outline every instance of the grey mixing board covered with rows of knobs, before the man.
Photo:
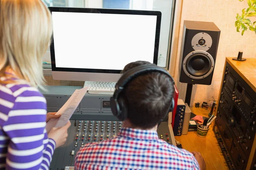
M 50 170 L 73 170 L 76 153 L 87 143 L 101 142 L 116 136 L 122 127 L 120 121 L 70 120 L 69 136 L 65 144 L 55 149 Z M 172 144 L 167 122 L 157 129 L 159 139 Z

